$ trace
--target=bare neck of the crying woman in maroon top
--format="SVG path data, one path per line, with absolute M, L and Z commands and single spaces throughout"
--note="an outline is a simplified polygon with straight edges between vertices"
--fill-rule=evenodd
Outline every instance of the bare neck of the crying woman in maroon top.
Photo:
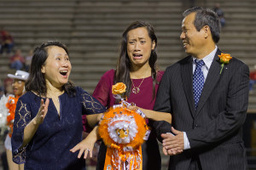
M 151 68 L 149 65 L 139 66 L 132 66 L 130 71 L 131 79 L 141 79 L 145 77 L 151 76 Z

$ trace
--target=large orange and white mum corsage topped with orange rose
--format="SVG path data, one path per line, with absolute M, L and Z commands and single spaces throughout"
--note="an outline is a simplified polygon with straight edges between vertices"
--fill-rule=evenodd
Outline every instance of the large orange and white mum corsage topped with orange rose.
M 125 84 L 113 85 L 112 93 L 125 93 Z M 99 133 L 108 146 L 104 169 L 141 169 L 142 147 L 150 131 L 141 113 L 131 111 L 122 99 L 120 105 L 114 105 L 102 116 Z

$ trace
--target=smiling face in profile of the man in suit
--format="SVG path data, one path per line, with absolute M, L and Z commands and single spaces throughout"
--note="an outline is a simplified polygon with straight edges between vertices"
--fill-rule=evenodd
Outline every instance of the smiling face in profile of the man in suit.
M 197 31 L 194 26 L 195 13 L 191 13 L 183 19 L 182 33 L 180 39 L 183 40 L 183 48 L 187 54 L 200 58 L 206 44 L 205 27 Z

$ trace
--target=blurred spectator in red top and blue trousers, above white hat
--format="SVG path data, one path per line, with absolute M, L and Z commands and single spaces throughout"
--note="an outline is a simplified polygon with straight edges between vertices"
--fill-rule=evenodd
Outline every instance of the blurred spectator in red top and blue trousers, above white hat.
M 21 70 L 25 65 L 25 59 L 21 55 L 20 49 L 15 51 L 15 54 L 10 58 L 10 68 L 15 70 Z

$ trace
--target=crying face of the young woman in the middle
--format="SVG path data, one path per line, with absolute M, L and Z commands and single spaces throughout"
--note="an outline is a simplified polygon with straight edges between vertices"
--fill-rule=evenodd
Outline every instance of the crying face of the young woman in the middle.
M 148 59 L 154 47 L 155 42 L 152 42 L 145 27 L 139 27 L 127 33 L 127 54 L 132 65 L 148 65 Z

